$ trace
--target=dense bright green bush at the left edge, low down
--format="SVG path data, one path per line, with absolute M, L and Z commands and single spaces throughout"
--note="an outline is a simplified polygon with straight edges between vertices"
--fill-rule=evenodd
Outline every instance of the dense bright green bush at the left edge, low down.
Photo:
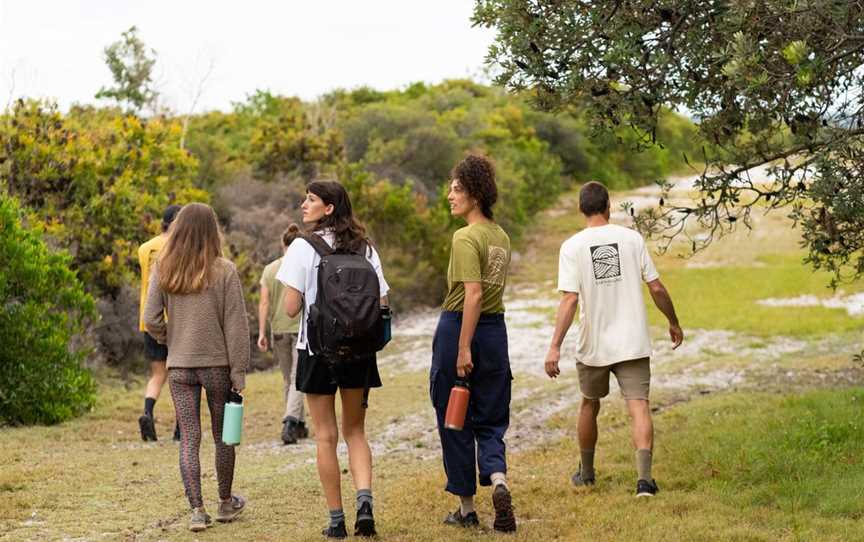
M 21 225 L 0 193 L 0 423 L 57 423 L 88 409 L 95 385 L 73 336 L 95 314 L 71 259 Z

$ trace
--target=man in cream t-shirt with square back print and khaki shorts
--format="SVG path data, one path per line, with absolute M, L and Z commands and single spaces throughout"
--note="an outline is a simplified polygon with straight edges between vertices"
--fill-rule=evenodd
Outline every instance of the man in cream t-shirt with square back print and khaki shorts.
M 558 290 L 562 298 L 545 362 L 546 374 L 557 377 L 561 343 L 578 308 L 576 367 L 582 392 L 578 423 L 582 461 L 571 480 L 577 486 L 595 482 L 597 415 L 600 399 L 609 394 L 611 373 L 618 380 L 632 420 L 636 495 L 653 496 L 657 484 L 651 477 L 654 427 L 648 406 L 651 339 L 642 283 L 648 284 L 654 304 L 669 320 L 673 348 L 682 343 L 684 333 L 645 240 L 634 230 L 609 223 L 606 187 L 597 182 L 583 186 L 579 209 L 585 215 L 586 228 L 561 245 Z

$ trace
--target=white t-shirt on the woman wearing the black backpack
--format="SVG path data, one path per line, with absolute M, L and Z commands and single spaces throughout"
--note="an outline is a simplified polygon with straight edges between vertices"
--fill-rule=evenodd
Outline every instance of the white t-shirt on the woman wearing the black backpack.
M 320 232 L 315 233 L 323 237 L 328 245 L 333 246 L 334 237 L 331 232 L 323 234 Z M 384 280 L 384 272 L 381 270 L 381 259 L 378 257 L 378 252 L 374 247 L 371 247 L 371 249 L 366 253 L 366 259 L 372 264 L 375 273 L 378 274 L 381 297 L 384 297 L 390 291 L 390 286 Z M 279 267 L 279 271 L 276 272 L 276 279 L 279 282 L 303 294 L 304 316 L 301 319 L 300 335 L 297 337 L 298 350 L 308 349 L 306 342 L 306 315 L 309 314 L 309 311 L 306 310 L 306 307 L 315 303 L 318 294 L 318 263 L 320 261 L 321 257 L 318 256 L 318 253 L 315 252 L 315 249 L 312 248 L 312 245 L 308 241 L 305 239 L 296 239 L 288 247 L 288 250 L 285 251 L 282 265 Z

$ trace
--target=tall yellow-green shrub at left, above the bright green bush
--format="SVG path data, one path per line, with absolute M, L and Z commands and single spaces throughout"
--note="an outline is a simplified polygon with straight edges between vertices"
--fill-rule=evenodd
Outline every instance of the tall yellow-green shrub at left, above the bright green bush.
M 92 108 L 63 115 L 20 100 L 0 117 L 0 192 L 69 251 L 88 291 L 113 294 L 134 280 L 137 247 L 158 233 L 169 203 L 209 199 L 192 187 L 197 164 L 180 132 L 168 119 Z

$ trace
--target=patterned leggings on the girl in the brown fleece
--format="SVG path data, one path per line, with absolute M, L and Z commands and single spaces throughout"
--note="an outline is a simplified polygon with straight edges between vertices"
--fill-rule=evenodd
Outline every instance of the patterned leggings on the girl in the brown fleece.
M 228 367 L 171 368 L 168 370 L 168 385 L 180 423 L 180 476 L 189 504 L 192 508 L 204 506 L 198 457 L 201 448 L 201 388 L 207 390 L 207 406 L 210 408 L 213 441 L 216 444 L 219 498 L 230 498 L 234 481 L 234 447 L 222 442 L 222 416 L 231 391 Z

